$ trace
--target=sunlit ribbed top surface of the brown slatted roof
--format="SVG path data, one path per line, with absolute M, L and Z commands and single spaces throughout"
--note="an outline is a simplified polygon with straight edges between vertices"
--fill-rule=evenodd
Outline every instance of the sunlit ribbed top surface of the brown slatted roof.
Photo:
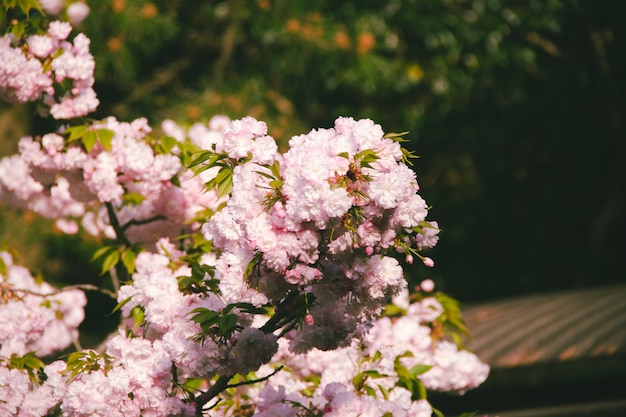
M 626 354 L 626 285 L 463 309 L 468 347 L 492 367 Z

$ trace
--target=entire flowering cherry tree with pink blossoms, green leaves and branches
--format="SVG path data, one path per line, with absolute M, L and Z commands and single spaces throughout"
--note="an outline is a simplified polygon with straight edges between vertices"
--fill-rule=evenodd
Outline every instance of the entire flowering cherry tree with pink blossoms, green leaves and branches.
M 63 4 L 3 4 L 0 97 L 58 129 L 0 160 L 0 199 L 105 242 L 101 291 L 123 320 L 80 348 L 94 288 L 54 288 L 0 252 L 0 414 L 431 416 L 427 390 L 485 380 L 458 304 L 404 278 L 398 259 L 433 266 L 439 227 L 402 134 L 339 117 L 281 153 L 252 117 L 167 120 L 163 136 L 89 120 L 89 39 L 42 9 Z

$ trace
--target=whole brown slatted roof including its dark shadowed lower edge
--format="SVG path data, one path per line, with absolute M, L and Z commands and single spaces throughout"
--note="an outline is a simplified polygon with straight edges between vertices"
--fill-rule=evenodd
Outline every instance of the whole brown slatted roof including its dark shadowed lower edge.
M 464 396 L 429 394 L 445 415 L 626 416 L 626 284 L 466 305 L 467 343 L 491 365 Z

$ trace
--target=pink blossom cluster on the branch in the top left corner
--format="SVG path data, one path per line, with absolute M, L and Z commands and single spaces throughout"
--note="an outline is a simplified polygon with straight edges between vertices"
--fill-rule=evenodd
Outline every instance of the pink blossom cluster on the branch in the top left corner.
M 90 40 L 78 34 L 67 40 L 67 22 L 50 23 L 44 35 L 15 44 L 12 35 L 0 38 L 0 98 L 12 103 L 42 100 L 55 119 L 72 119 L 94 111 L 99 104 L 93 90 L 95 62 Z M 58 91 L 63 91 L 57 98 Z

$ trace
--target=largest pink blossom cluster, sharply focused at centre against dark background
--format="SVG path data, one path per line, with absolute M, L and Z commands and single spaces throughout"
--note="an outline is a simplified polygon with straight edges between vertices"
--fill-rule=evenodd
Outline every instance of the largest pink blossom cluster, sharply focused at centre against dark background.
M 224 152 L 244 162 L 226 207 L 202 229 L 222 251 L 221 294 L 256 305 L 309 294 L 309 325 L 287 335 L 292 348 L 335 349 L 406 288 L 389 252 L 432 246 L 438 229 L 425 222 L 399 143 L 371 120 L 341 117 L 333 129 L 292 138 L 285 154 L 266 133 L 251 117 L 224 132 Z M 259 277 L 246 276 L 255 259 Z

